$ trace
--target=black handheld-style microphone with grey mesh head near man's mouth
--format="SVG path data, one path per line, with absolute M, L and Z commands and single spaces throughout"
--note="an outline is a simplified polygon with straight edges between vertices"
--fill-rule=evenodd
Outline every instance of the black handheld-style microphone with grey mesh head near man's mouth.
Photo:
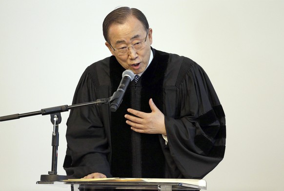
M 129 83 L 134 79 L 135 74 L 131 70 L 125 70 L 122 73 L 122 81 L 116 90 L 116 92 L 113 93 L 110 99 L 110 110 L 112 112 L 115 112 L 118 107 L 122 103 L 122 98 L 124 96 L 124 93 L 127 89 L 127 86 Z

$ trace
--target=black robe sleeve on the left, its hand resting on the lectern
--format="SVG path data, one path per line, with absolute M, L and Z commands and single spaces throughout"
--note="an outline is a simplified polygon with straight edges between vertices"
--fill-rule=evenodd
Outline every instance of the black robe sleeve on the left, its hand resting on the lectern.
M 72 104 L 96 101 L 98 88 L 94 84 L 89 66 L 81 76 Z M 67 121 L 67 151 L 63 164 L 67 175 L 81 178 L 100 172 L 111 177 L 107 160 L 109 148 L 101 115 L 100 106 L 71 110 Z

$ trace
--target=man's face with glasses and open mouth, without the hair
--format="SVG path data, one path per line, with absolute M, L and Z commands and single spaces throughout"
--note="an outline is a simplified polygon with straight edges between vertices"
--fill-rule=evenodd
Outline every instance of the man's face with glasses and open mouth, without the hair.
M 134 74 L 143 72 L 150 59 L 151 44 L 152 44 L 152 29 L 148 31 L 148 35 L 145 40 L 147 31 L 145 31 L 142 23 L 133 16 L 123 24 L 112 24 L 108 30 L 109 43 L 105 42 L 112 55 L 116 57 L 118 62 L 124 69 L 130 69 Z M 140 50 L 134 50 L 132 46 L 137 42 L 145 43 L 145 47 Z M 121 55 L 119 51 L 113 48 L 129 47 L 126 54 Z

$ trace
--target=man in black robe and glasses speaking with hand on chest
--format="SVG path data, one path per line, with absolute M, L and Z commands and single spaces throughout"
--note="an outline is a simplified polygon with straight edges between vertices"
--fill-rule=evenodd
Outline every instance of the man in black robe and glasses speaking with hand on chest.
M 130 69 L 116 112 L 108 105 L 73 109 L 67 122 L 64 169 L 76 178 L 203 178 L 223 159 L 225 118 L 203 69 L 155 50 L 141 11 L 121 7 L 103 21 L 113 56 L 82 74 L 73 104 L 109 98 Z

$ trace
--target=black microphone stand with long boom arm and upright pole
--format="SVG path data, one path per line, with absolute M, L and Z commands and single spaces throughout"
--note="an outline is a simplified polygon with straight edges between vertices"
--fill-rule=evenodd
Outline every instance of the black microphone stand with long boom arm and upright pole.
M 75 109 L 78 107 L 83 106 L 93 106 L 93 105 L 102 105 L 108 104 L 112 102 L 115 97 L 105 98 L 105 99 L 98 99 L 94 102 L 87 102 L 82 104 L 75 104 L 72 106 L 55 106 L 49 107 L 45 109 L 41 109 L 41 111 L 34 111 L 29 113 L 22 113 L 22 114 L 13 114 L 0 117 L 1 121 L 8 121 L 14 119 L 20 119 L 21 117 L 29 117 L 33 115 L 48 115 L 50 114 L 50 121 L 53 124 L 53 132 L 52 132 L 52 162 L 51 162 L 51 171 L 48 171 L 48 174 L 41 175 L 41 181 L 58 181 L 67 179 L 65 175 L 58 175 L 57 174 L 57 159 L 58 159 L 58 146 L 59 146 L 59 124 L 61 123 L 61 112 L 68 111 L 69 109 Z

